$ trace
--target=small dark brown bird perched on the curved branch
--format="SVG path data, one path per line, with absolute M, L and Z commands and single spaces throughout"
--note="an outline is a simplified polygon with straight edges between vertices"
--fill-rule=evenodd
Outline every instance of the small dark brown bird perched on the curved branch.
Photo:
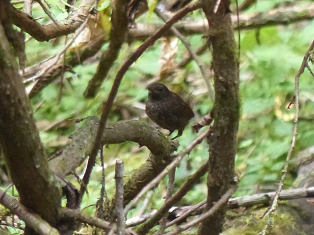
M 145 108 L 147 116 L 162 128 L 169 130 L 169 136 L 174 130 L 178 130 L 178 135 L 171 140 L 182 136 L 189 120 L 194 117 L 190 106 L 179 94 L 169 91 L 161 83 L 151 84 L 147 89 L 149 91 Z

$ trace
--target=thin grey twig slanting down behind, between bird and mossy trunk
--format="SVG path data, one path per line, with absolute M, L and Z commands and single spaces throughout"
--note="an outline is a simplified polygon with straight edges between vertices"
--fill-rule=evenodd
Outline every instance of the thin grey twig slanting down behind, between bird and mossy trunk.
M 155 13 L 164 22 L 167 22 L 167 16 L 165 14 L 163 14 L 160 10 L 155 8 Z M 190 57 L 193 58 L 193 60 L 197 64 L 198 68 L 201 71 L 203 80 L 204 80 L 204 82 L 206 84 L 207 90 L 209 92 L 209 97 L 213 101 L 214 100 L 214 91 L 213 91 L 213 89 L 212 89 L 212 87 L 211 87 L 211 85 L 209 83 L 208 76 L 206 76 L 206 73 L 204 71 L 203 65 L 202 65 L 201 61 L 199 60 L 197 54 L 192 50 L 190 43 L 187 42 L 187 40 L 185 39 L 183 34 L 180 33 L 180 31 L 175 26 L 171 26 L 170 30 L 180 39 L 180 41 L 183 43 L 184 47 L 186 47 L 188 53 L 190 54 Z

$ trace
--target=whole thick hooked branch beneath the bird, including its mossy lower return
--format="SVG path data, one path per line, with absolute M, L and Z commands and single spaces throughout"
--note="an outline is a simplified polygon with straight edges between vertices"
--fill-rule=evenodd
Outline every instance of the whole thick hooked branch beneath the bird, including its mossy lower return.
M 72 141 L 62 152 L 57 153 L 49 162 L 52 170 L 61 175 L 68 175 L 81 164 L 93 147 L 99 119 L 88 118 L 87 124 L 81 127 L 72 137 Z M 126 180 L 124 186 L 124 205 L 172 160 L 172 153 L 177 149 L 177 141 L 169 141 L 156 128 L 147 126 L 137 120 L 120 121 L 107 124 L 101 140 L 102 144 L 134 141 L 140 146 L 147 146 L 152 152 L 150 160 L 141 165 L 134 174 Z M 114 198 L 110 205 L 114 205 Z M 114 207 L 106 208 L 105 218 L 113 213 Z

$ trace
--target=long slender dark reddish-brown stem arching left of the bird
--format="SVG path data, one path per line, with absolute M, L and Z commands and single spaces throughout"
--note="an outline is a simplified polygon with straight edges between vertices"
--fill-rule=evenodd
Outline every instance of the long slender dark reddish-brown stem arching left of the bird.
M 101 117 L 101 120 L 99 122 L 97 134 L 95 137 L 94 146 L 93 146 L 93 149 L 89 155 L 88 164 L 87 164 L 86 171 L 85 171 L 85 174 L 83 177 L 83 182 L 85 185 L 87 185 L 89 182 L 90 174 L 91 174 L 92 169 L 93 169 L 94 164 L 95 164 L 98 149 L 100 148 L 100 145 L 101 145 L 101 140 L 102 140 L 101 137 L 103 135 L 105 125 L 106 125 L 110 110 L 111 110 L 112 105 L 113 105 L 113 101 L 114 101 L 114 99 L 118 93 L 118 89 L 119 89 L 121 81 L 124 77 L 124 74 L 128 71 L 130 66 L 144 53 L 144 51 L 148 47 L 152 46 L 157 41 L 157 39 L 160 38 L 173 24 L 175 24 L 176 22 L 181 20 L 189 12 L 194 11 L 200 7 L 201 7 L 201 4 L 198 1 L 198 2 L 195 2 L 191 5 L 186 6 L 185 8 L 180 10 L 166 24 L 164 24 L 164 26 L 161 27 L 154 35 L 152 35 L 140 47 L 138 47 L 133 52 L 133 54 L 131 54 L 131 56 L 127 59 L 127 61 L 123 64 L 121 69 L 118 71 L 116 78 L 114 79 L 110 94 L 109 94 L 109 96 L 105 102 L 102 117 Z M 84 194 L 84 188 L 80 189 L 80 194 L 81 195 Z

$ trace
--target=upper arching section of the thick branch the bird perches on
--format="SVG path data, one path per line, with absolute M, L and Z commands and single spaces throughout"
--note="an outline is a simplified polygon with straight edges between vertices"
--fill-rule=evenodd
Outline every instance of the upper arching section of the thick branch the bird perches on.
M 63 176 L 72 174 L 83 163 L 93 147 L 99 118 L 87 118 L 83 127 L 72 136 L 71 142 L 61 152 L 56 153 L 49 161 L 53 172 Z M 169 158 L 178 145 L 169 141 L 156 128 L 137 120 L 125 120 L 107 124 L 102 144 L 123 143 L 133 141 L 140 146 L 146 146 L 160 161 Z M 155 157 L 153 157 L 154 159 Z

